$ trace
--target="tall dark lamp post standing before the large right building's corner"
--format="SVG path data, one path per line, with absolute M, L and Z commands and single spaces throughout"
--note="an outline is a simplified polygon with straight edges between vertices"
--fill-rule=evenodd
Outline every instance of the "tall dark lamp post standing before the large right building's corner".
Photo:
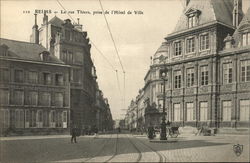
M 166 82 L 166 72 L 167 70 L 164 69 L 161 72 L 161 78 L 163 79 L 163 116 L 162 116 L 162 122 L 161 122 L 161 137 L 160 140 L 167 140 L 166 137 L 166 111 L 165 111 L 165 98 L 166 98 L 166 92 L 165 92 L 165 82 Z

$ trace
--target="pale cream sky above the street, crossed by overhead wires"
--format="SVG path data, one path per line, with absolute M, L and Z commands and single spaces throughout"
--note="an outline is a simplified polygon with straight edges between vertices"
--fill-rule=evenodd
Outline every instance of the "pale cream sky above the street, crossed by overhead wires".
M 150 56 L 160 47 L 164 37 L 174 30 L 185 0 L 101 0 L 104 11 L 109 12 L 106 18 L 125 70 L 125 90 L 123 71 L 104 16 L 100 14 L 102 10 L 99 0 L 59 2 L 75 21 L 80 18 L 83 30 L 88 32 L 91 42 L 108 60 L 92 46 L 91 57 L 97 70 L 97 81 L 109 100 L 113 119 L 124 118 L 125 109 L 144 86 Z M 42 24 L 43 10 L 51 11 L 49 19 L 55 15 L 63 20 L 70 18 L 68 14 L 61 13 L 64 9 L 56 0 L 3 0 L 0 3 L 1 38 L 29 42 L 36 10 L 40 11 L 39 27 Z M 250 0 L 243 0 L 243 12 L 249 6 Z M 135 14 L 134 11 L 140 11 L 141 14 Z M 118 78 L 112 67 L 118 70 Z

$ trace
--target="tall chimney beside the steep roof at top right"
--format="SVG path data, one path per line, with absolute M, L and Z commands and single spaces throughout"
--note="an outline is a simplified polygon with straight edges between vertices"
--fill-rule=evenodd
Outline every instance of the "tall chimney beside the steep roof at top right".
M 234 0 L 233 26 L 235 28 L 238 27 L 242 18 L 243 18 L 242 0 Z

